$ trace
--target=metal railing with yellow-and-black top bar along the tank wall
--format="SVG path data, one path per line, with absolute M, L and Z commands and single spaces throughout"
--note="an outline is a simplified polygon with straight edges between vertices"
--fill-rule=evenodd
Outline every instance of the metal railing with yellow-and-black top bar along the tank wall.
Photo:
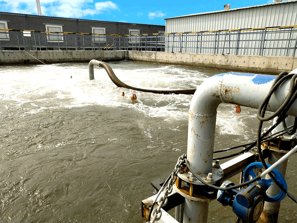
M 297 56 L 297 25 L 164 34 L 107 35 L 0 29 L 0 50 L 135 50 Z

